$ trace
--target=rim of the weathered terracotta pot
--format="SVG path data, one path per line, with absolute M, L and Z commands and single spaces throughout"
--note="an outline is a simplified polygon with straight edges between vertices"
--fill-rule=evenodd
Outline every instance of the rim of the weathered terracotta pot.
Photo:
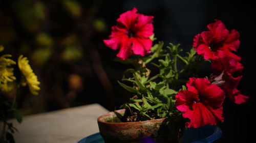
M 121 112 L 121 111 L 124 111 L 125 109 L 119 109 L 119 110 L 115 110 L 117 112 Z M 105 121 L 102 121 L 100 119 L 102 119 L 104 116 L 106 115 L 109 115 L 110 113 L 114 113 L 114 111 L 110 111 L 108 113 L 104 113 L 103 115 L 101 115 L 100 117 L 98 117 L 97 121 L 98 123 L 102 123 L 102 124 L 141 124 L 141 123 L 146 123 L 146 122 L 156 122 L 156 121 L 163 121 L 165 120 L 165 118 L 160 118 L 160 119 L 154 119 L 154 120 L 146 120 L 146 121 L 137 121 L 137 122 L 121 122 L 121 123 L 111 123 L 111 122 L 105 122 Z

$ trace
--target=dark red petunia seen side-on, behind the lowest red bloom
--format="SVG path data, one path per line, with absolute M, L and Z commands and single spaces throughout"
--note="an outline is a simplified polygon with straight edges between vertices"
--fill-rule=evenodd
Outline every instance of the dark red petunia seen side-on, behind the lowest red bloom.
M 218 85 L 234 103 L 242 104 L 246 103 L 246 100 L 249 99 L 248 96 L 242 95 L 241 91 L 237 90 L 238 83 L 242 77 L 242 75 L 233 77 L 232 74 L 228 72 L 222 72 L 219 76 L 214 78 L 214 82 L 212 83 Z

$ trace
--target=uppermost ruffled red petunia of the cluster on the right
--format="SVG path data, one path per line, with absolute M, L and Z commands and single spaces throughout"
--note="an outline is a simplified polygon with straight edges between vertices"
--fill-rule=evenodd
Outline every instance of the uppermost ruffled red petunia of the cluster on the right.
M 239 33 L 236 30 L 229 32 L 221 20 L 215 20 L 207 27 L 209 31 L 196 35 L 193 40 L 193 46 L 198 54 L 206 60 L 216 60 L 224 56 L 241 60 L 240 56 L 231 52 L 236 51 L 240 44 Z

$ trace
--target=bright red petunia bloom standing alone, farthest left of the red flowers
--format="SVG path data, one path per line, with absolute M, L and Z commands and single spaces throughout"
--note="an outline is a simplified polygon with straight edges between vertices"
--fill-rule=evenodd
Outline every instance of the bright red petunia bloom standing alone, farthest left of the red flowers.
M 124 12 L 117 19 L 117 25 L 112 26 L 109 40 L 103 40 L 106 46 L 119 49 L 117 57 L 121 60 L 130 55 L 139 54 L 144 56 L 152 47 L 153 16 L 138 14 L 137 9 Z

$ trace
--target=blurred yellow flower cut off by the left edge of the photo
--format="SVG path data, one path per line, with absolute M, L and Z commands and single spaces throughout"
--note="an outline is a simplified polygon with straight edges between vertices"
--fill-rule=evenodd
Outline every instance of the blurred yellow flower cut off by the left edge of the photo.
M 4 50 L 4 47 L 0 45 L 0 52 Z M 10 91 L 12 88 L 8 86 L 8 82 L 15 80 L 13 75 L 13 68 L 9 66 L 15 65 L 16 63 L 10 58 L 12 55 L 4 54 L 0 56 L 0 89 L 4 91 Z

